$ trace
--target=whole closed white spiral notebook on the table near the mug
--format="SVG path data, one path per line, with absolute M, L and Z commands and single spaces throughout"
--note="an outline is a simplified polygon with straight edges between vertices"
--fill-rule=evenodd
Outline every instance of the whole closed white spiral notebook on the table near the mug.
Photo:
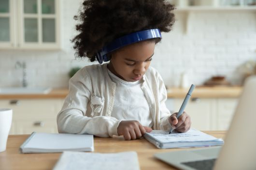
M 21 153 L 93 151 L 93 135 L 33 132 L 20 146 Z

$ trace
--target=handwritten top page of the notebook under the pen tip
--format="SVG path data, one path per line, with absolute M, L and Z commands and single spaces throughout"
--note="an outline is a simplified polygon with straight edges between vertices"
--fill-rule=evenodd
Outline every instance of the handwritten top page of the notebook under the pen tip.
M 201 142 L 201 141 L 212 141 L 218 140 L 217 138 L 198 131 L 196 129 L 190 129 L 185 133 L 154 130 L 149 134 L 159 140 L 162 143 L 175 143 L 175 142 Z

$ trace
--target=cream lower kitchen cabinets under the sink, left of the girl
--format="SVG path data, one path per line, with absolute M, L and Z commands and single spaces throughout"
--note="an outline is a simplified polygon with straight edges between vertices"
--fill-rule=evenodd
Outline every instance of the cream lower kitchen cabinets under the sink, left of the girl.
M 13 109 L 10 134 L 57 133 L 56 118 L 63 102 L 64 99 L 10 99 L 0 100 L 0 107 Z

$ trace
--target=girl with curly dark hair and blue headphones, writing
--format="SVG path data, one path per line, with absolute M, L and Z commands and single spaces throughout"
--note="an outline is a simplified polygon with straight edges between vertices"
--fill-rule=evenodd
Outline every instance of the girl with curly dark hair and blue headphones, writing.
M 138 139 L 145 132 L 188 131 L 190 117 L 177 119 L 166 108 L 167 92 L 150 67 L 160 32 L 169 32 L 174 10 L 164 0 L 85 0 L 72 41 L 78 57 L 91 62 L 69 82 L 69 94 L 57 116 L 60 133 L 123 135 Z

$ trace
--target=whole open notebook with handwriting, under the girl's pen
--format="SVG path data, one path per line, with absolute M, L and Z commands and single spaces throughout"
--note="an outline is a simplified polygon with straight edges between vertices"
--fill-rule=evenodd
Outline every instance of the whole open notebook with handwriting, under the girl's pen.
M 150 133 L 145 133 L 144 138 L 160 149 L 224 144 L 222 139 L 217 139 L 196 129 L 190 129 L 185 133 L 173 131 L 169 134 L 169 132 L 170 131 L 154 130 Z

